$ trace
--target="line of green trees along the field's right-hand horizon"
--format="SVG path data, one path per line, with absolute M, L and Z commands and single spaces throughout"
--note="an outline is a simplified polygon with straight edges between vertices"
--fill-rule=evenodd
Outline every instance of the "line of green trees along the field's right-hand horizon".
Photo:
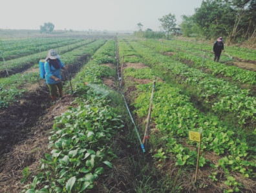
M 158 19 L 162 30 L 169 33 L 176 30 L 174 14 Z M 140 24 L 140 35 L 142 33 Z M 182 15 L 180 24 L 186 37 L 197 36 L 206 39 L 224 37 L 226 42 L 255 41 L 256 38 L 256 0 L 206 0 L 193 15 Z M 148 31 L 148 30 L 147 30 Z M 135 33 L 139 33 L 135 32 Z M 148 32 L 147 32 L 148 33 Z M 153 32 L 151 32 L 153 33 Z

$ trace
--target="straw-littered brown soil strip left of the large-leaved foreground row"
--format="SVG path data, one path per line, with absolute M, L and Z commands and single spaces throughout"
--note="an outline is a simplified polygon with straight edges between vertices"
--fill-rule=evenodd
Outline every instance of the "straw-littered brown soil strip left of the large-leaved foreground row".
M 23 169 L 30 168 L 36 171 L 40 158 L 48 152 L 48 136 L 54 123 L 54 117 L 67 111 L 74 98 L 70 95 L 63 96 L 54 106 L 45 110 L 34 125 L 26 128 L 26 137 L 20 142 L 12 144 L 12 150 L 3 154 L 0 159 L 0 192 L 19 192 L 22 190 L 20 180 L 23 178 Z M 34 112 L 36 114 L 36 112 Z M 38 115 L 38 112 L 37 112 Z M 17 131 L 17 134 L 20 134 Z M 32 176 L 30 176 L 31 179 Z M 29 180 L 29 179 L 28 179 Z

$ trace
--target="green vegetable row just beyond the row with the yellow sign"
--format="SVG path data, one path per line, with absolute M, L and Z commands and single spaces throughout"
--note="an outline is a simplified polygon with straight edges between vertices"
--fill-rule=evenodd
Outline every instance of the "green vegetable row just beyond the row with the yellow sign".
M 186 64 L 146 48 L 138 42 L 129 43 L 147 64 L 158 71 L 160 77 L 178 76 L 183 84 L 193 86 L 198 98 L 202 98 L 202 103 L 211 107 L 212 111 L 220 115 L 230 113 L 237 117 L 240 125 L 255 124 L 256 98 L 251 96 L 250 90 L 239 89 L 228 81 L 189 68 Z

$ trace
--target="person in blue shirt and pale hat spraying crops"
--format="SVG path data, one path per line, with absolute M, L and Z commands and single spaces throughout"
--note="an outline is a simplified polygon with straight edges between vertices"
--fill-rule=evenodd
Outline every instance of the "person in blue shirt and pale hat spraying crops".
M 45 59 L 45 80 L 50 90 L 50 97 L 53 101 L 56 97 L 62 96 L 61 69 L 67 69 L 60 60 L 56 50 L 49 50 Z M 58 91 L 58 92 L 57 92 Z

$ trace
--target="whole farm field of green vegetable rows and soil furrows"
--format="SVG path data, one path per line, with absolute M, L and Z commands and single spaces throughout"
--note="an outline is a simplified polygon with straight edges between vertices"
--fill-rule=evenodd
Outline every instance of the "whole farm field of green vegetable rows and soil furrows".
M 2 43 L 10 74 L 0 60 L 0 192 L 255 191 L 255 50 L 227 46 L 229 56 L 213 62 L 211 45 L 178 39 Z M 39 78 L 51 48 L 70 73 L 62 72 L 56 103 Z M 201 129 L 195 182 L 198 142 L 189 131 Z

